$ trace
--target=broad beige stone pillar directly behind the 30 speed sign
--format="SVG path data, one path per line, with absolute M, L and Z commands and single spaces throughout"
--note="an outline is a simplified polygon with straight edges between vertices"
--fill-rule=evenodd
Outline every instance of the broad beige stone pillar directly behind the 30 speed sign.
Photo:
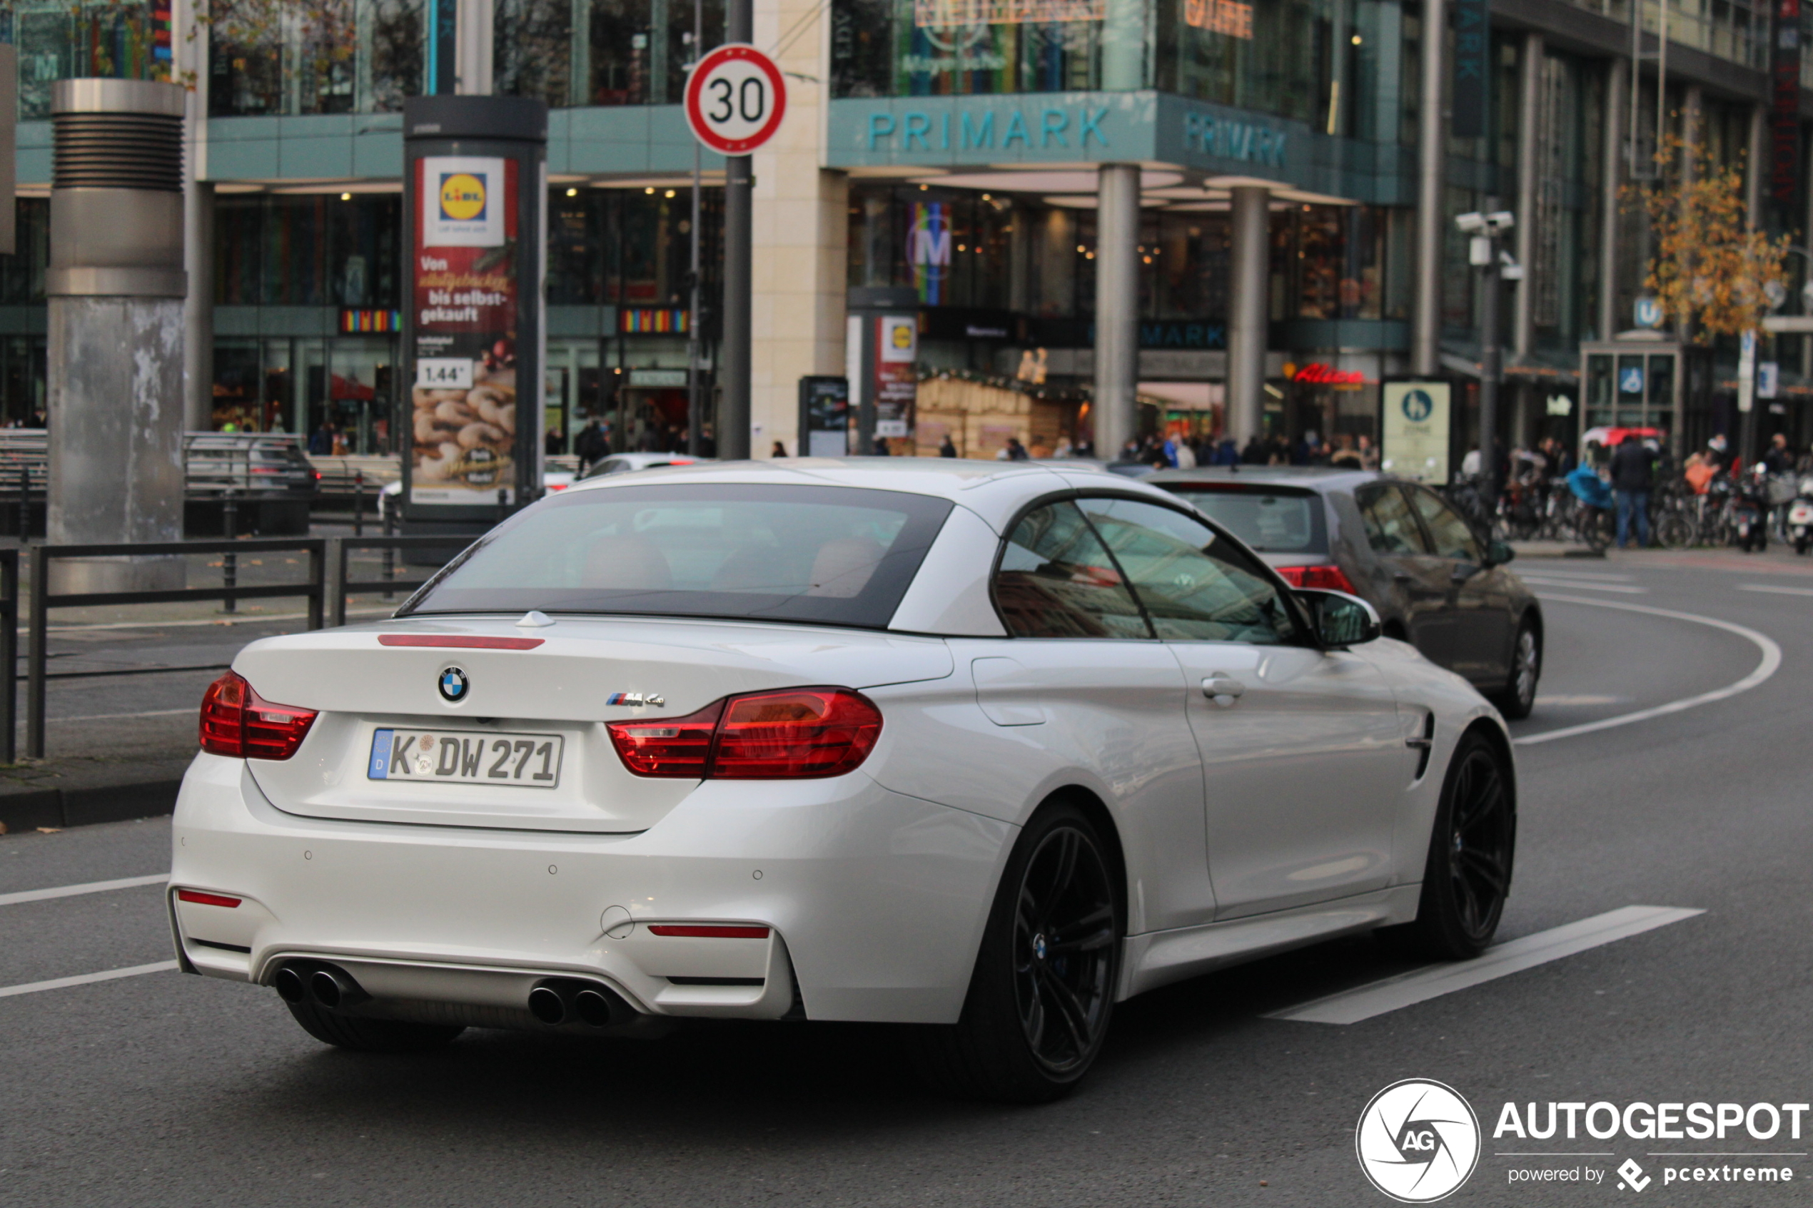
M 818 20 L 814 34 L 792 38 L 778 54 L 781 71 L 794 72 L 787 80 L 787 121 L 752 156 L 749 453 L 758 458 L 769 456 L 776 440 L 798 453 L 800 379 L 845 371 L 850 181 L 819 167 L 829 94 L 818 80 L 825 78 L 830 22 L 821 18 L 818 0 L 763 2 L 754 11 L 754 43 L 778 45 L 801 20 Z M 885 234 L 887 214 L 876 217 L 877 234 Z M 887 283 L 885 266 L 881 273 L 874 284 Z M 720 453 L 723 447 L 718 433 Z

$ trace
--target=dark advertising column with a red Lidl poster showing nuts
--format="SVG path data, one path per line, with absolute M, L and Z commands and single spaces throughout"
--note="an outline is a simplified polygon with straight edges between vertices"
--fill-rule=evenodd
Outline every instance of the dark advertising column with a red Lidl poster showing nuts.
M 540 496 L 548 107 L 417 96 L 402 127 L 404 531 L 475 534 Z

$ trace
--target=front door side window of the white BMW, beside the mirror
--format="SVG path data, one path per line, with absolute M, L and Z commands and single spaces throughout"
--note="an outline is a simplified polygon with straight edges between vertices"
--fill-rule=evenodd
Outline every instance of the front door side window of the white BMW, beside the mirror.
M 1082 511 L 1151 616 L 1173 641 L 1296 641 L 1291 605 L 1229 538 L 1202 522 L 1137 500 L 1082 500 Z

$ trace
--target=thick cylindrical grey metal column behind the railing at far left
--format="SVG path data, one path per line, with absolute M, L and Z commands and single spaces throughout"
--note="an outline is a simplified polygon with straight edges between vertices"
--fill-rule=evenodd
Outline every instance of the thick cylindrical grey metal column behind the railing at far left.
M 174 83 L 51 85 L 51 542 L 183 536 L 183 101 Z M 53 590 L 183 580 L 179 558 L 96 558 L 60 563 Z

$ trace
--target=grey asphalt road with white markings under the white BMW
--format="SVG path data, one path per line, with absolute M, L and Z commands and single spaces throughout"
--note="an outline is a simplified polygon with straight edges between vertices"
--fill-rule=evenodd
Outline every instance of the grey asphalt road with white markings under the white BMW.
M 1813 565 L 1517 569 L 1550 628 L 1525 737 L 1717 692 L 1779 647 L 1739 695 L 1519 748 L 1501 938 L 1628 906 L 1702 915 L 1351 1025 L 1262 1016 L 1403 969 L 1367 938 L 1198 978 L 1124 1003 L 1088 1083 L 1044 1108 L 936 1098 L 881 1027 L 468 1032 L 370 1058 L 312 1041 L 270 991 L 174 973 L 0 996 L 0 1204 L 1387 1204 L 1354 1125 L 1405 1078 L 1449 1083 L 1487 1128 L 1445 1203 L 1806 1203 L 1813 1121 L 1724 1145 L 1490 1134 L 1507 1101 L 1813 1099 Z M 0 839 L 0 895 L 158 873 L 167 837 L 147 820 Z M 154 886 L 0 906 L 0 994 L 169 958 Z M 1670 1148 L 1793 1152 L 1766 1161 L 1795 1181 L 1670 1186 L 1650 1157 Z M 1626 1157 L 1653 1179 L 1641 1194 L 1608 1174 Z M 1510 1184 L 1543 1166 L 1605 1181 Z

